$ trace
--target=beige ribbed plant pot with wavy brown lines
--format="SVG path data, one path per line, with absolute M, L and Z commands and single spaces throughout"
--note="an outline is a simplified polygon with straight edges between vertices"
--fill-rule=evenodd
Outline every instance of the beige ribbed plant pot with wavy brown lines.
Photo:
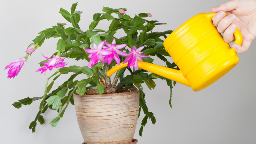
M 139 114 L 139 90 L 115 94 L 97 94 L 86 90 L 74 93 L 78 125 L 86 144 L 126 144 L 133 141 Z

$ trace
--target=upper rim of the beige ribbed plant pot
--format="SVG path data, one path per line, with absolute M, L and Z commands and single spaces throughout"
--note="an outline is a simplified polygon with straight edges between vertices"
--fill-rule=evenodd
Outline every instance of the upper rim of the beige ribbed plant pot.
M 111 94 L 93 94 L 93 95 L 80 95 L 78 93 L 74 93 L 73 96 L 76 96 L 76 97 L 95 97 L 95 96 L 100 96 L 100 97 L 107 97 L 107 96 L 116 96 L 116 95 L 129 95 L 129 94 L 134 94 L 134 93 L 139 93 L 140 91 L 138 89 L 135 89 L 135 88 L 120 88 L 119 90 L 122 90 L 122 89 L 132 89 L 133 91 L 131 92 L 124 92 L 124 93 L 111 93 Z M 86 90 L 86 91 L 95 91 L 97 89 L 89 89 L 89 90 Z

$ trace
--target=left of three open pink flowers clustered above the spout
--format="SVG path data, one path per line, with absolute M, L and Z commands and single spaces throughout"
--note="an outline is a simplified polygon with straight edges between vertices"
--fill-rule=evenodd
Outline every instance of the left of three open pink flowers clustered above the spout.
M 90 54 L 88 57 L 91 58 L 89 61 L 88 67 L 93 66 L 94 64 L 97 64 L 99 60 L 103 63 L 106 63 L 104 56 L 112 54 L 112 52 L 106 51 L 102 49 L 102 46 L 104 45 L 104 41 L 101 42 L 98 46 L 96 44 L 93 44 L 94 49 L 85 49 L 84 51 Z

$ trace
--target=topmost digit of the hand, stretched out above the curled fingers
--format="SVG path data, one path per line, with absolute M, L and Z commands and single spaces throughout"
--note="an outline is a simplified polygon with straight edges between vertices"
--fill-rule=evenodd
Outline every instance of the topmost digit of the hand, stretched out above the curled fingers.
M 219 6 L 212 7 L 211 11 L 214 13 L 218 13 L 219 11 L 228 12 L 228 11 L 235 9 L 236 7 L 237 7 L 237 0 L 231 0 L 228 2 L 224 2 Z

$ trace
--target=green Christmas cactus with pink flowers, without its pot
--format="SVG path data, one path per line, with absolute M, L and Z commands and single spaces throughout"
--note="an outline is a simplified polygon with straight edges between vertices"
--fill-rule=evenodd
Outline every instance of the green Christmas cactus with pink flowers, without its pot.
M 78 25 L 80 14 L 83 12 L 75 11 L 76 6 L 77 3 L 72 5 L 70 13 L 62 8 L 59 11 L 73 27 L 65 28 L 65 23 L 57 23 L 57 26 L 41 31 L 39 36 L 33 40 L 33 43 L 28 46 L 26 50 L 27 56 L 5 67 L 5 69 L 10 68 L 8 70 L 8 78 L 16 77 L 24 66 L 25 61 L 27 61 L 28 56 L 36 51 L 45 42 L 45 39 L 52 37 L 59 39 L 56 53 L 49 57 L 45 57 L 42 54 L 42 59 L 45 58 L 45 60 L 39 63 L 40 68 L 38 67 L 36 71 L 47 76 L 47 71 L 56 69 L 54 74 L 46 79 L 43 96 L 20 99 L 18 102 L 14 102 L 13 106 L 21 108 L 22 105 L 30 105 L 33 101 L 41 100 L 39 112 L 35 120 L 29 125 L 29 129 L 32 129 L 34 133 L 37 121 L 40 124 L 44 123 L 42 114 L 48 109 L 58 111 L 57 117 L 49 122 L 52 127 L 56 127 L 60 118 L 63 117 L 69 102 L 74 105 L 73 93 L 75 92 L 83 95 L 86 90 L 95 88 L 101 95 L 116 93 L 122 87 L 135 88 L 140 91 L 139 116 L 141 109 L 145 114 L 139 130 L 139 134 L 142 136 L 143 127 L 147 123 L 147 119 L 151 119 L 153 124 L 156 122 L 153 112 L 149 112 L 146 106 L 143 87 L 148 87 L 151 90 L 156 86 L 153 79 L 161 78 L 166 80 L 171 91 L 169 104 L 172 108 L 172 87 L 173 85 L 175 86 L 176 82 L 173 81 L 172 83 L 170 79 L 138 68 L 137 61 L 152 63 L 154 59 L 151 57 L 156 56 L 156 58 L 158 57 L 166 63 L 166 67 L 178 69 L 175 63 L 170 63 L 165 58 L 165 56 L 170 57 L 170 55 L 164 49 L 164 41 L 159 38 L 161 36 L 166 38 L 166 35 L 171 34 L 173 31 L 152 32 L 155 26 L 165 25 L 166 23 L 157 23 L 158 21 L 156 20 L 148 21 L 144 19 L 148 16 L 151 17 L 150 13 L 140 13 L 132 18 L 126 14 L 125 8 L 112 9 L 109 7 L 103 7 L 102 11 L 105 13 L 94 14 L 89 30 L 84 31 Z M 108 30 L 95 29 L 100 21 L 105 20 L 112 21 Z M 115 33 L 121 30 L 127 35 L 121 38 L 115 37 Z M 89 65 L 83 67 L 68 66 L 67 58 L 75 58 L 77 61 L 86 60 Z M 120 65 L 121 62 L 128 63 L 128 67 L 118 70 L 111 82 L 106 72 L 113 66 Z M 124 76 L 125 70 L 128 70 L 131 74 Z M 51 91 L 54 81 L 61 78 L 61 75 L 68 73 L 74 74 L 57 89 Z M 84 75 L 84 79 L 74 80 L 80 74 Z M 49 82 L 51 78 L 53 79 Z

